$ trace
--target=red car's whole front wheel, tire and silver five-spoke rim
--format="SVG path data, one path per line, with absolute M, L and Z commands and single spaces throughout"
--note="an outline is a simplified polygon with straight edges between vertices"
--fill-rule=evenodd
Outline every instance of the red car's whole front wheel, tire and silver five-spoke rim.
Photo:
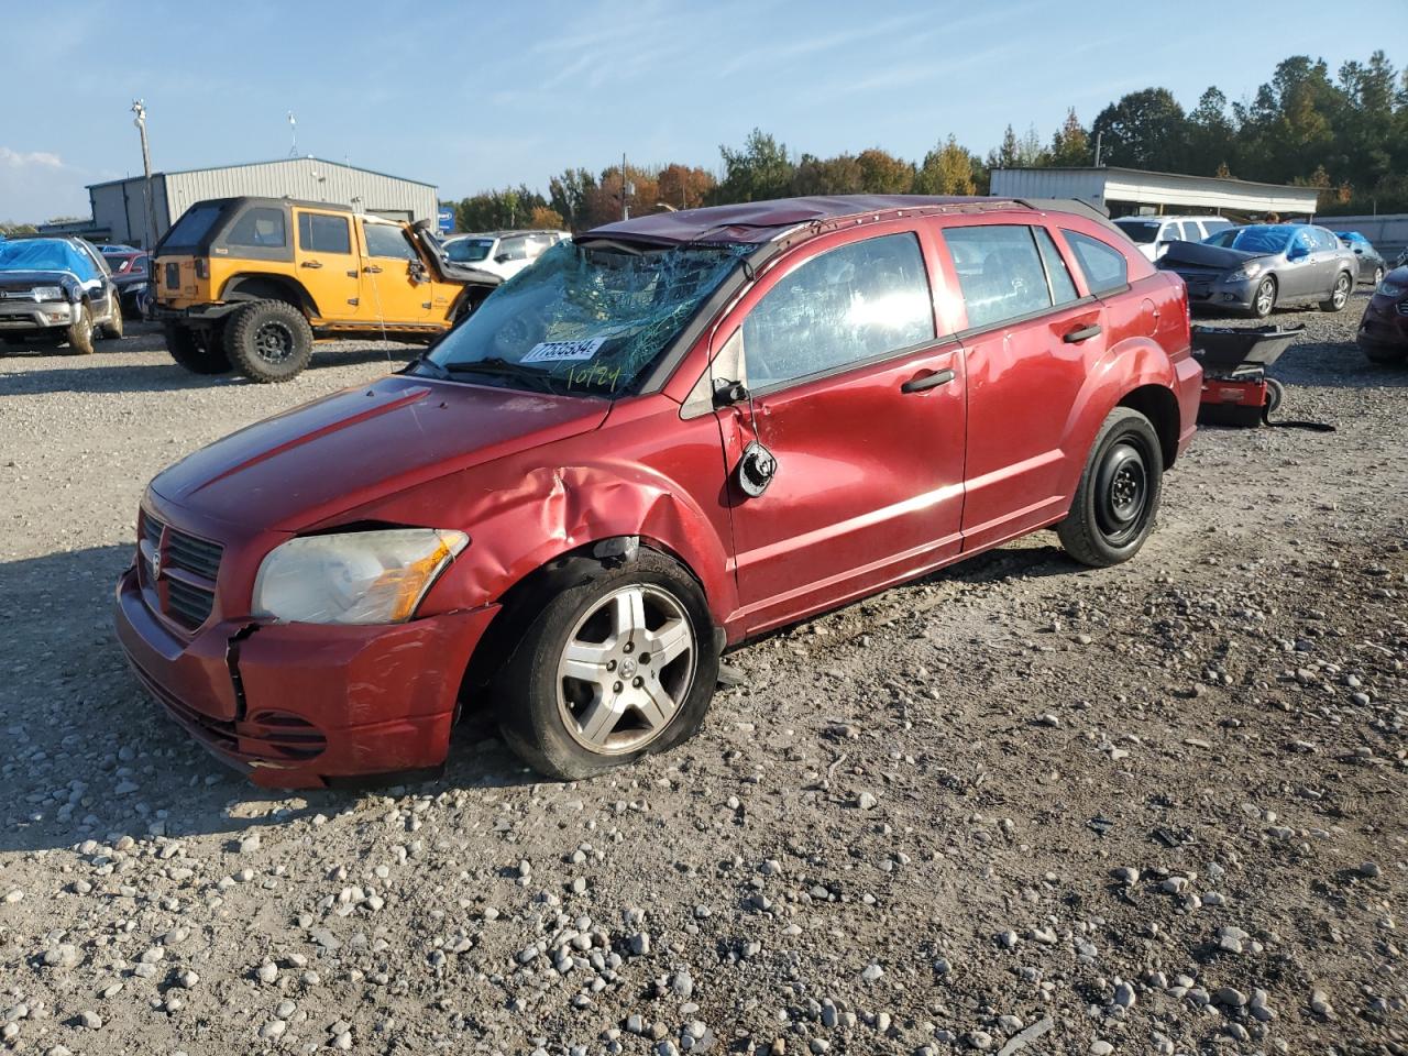
M 680 743 L 704 721 L 718 680 L 704 594 L 673 560 L 641 549 L 614 569 L 576 559 L 572 573 L 548 594 L 494 694 L 508 745 L 563 780 Z

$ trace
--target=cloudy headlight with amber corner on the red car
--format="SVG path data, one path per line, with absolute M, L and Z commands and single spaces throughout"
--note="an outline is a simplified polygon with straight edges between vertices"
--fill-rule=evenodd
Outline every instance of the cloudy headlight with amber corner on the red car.
M 253 615 L 301 624 L 398 624 L 410 620 L 469 536 L 396 528 L 290 539 L 255 577 Z

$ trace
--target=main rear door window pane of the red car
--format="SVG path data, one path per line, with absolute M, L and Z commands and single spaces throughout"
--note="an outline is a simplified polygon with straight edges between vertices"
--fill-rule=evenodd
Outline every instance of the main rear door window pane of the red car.
M 952 227 L 943 230 L 943 241 L 957 268 L 970 329 L 1052 307 L 1052 289 L 1032 228 L 1025 224 Z

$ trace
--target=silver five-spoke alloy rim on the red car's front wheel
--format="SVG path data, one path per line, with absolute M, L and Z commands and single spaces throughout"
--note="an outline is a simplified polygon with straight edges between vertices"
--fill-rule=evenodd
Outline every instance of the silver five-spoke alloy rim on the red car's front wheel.
M 598 755 L 636 752 L 673 721 L 698 656 L 684 605 L 667 590 L 632 584 L 583 615 L 558 660 L 558 712 Z

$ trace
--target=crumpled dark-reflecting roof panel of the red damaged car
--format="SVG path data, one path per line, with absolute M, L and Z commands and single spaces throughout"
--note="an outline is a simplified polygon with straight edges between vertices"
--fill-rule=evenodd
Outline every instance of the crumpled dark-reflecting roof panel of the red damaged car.
M 945 207 L 1021 207 L 1012 199 L 935 197 L 924 194 L 834 194 L 826 197 L 743 201 L 676 213 L 652 213 L 593 228 L 583 238 L 638 238 L 652 242 L 766 242 L 780 228 L 828 222 L 877 213 L 939 211 Z

